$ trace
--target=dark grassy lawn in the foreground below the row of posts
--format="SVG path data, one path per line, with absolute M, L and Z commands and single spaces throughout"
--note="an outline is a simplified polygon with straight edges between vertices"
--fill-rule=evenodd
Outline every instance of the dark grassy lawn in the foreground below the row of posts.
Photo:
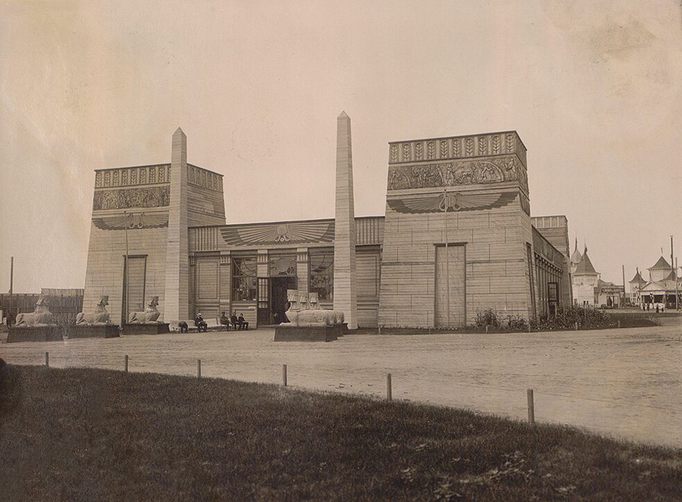
M 682 450 L 253 383 L 7 367 L 0 500 L 674 500 Z

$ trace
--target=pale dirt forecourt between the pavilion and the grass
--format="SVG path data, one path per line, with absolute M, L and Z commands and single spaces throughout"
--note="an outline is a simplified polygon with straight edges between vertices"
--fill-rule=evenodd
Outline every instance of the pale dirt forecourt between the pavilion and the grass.
M 44 363 L 281 383 L 421 401 L 682 447 L 682 318 L 654 328 L 533 334 L 349 335 L 332 343 L 271 341 L 272 329 L 2 343 L 10 364 Z

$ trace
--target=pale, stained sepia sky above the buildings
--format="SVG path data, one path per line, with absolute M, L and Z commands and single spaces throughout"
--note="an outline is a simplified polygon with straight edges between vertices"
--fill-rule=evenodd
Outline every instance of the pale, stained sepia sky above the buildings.
M 682 250 L 679 0 L 3 1 L 0 291 L 12 255 L 15 292 L 82 288 L 94 169 L 170 162 L 178 126 L 228 223 L 333 217 L 342 110 L 357 216 L 388 141 L 515 129 L 531 214 L 603 279 Z

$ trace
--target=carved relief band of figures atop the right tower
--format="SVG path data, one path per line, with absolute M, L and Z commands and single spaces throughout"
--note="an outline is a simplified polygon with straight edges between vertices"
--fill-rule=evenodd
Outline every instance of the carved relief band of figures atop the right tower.
M 527 175 L 518 160 L 509 155 L 498 159 L 439 162 L 417 166 L 389 167 L 389 190 L 430 187 L 456 187 L 466 184 L 487 184 L 520 181 L 527 192 Z

